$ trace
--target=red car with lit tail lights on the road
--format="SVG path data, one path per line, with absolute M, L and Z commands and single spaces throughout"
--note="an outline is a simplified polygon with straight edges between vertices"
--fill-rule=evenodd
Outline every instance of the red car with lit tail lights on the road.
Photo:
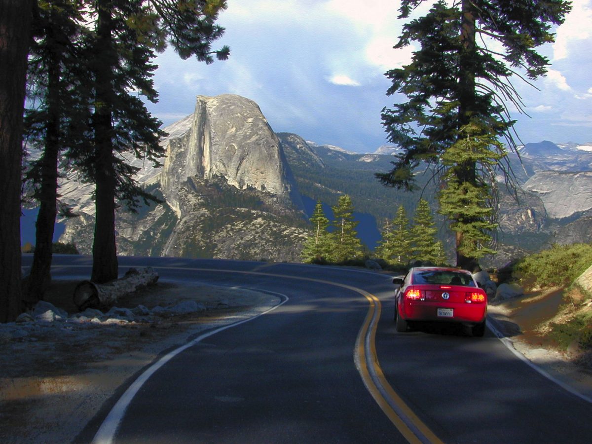
M 392 279 L 395 291 L 397 332 L 417 322 L 459 323 L 483 336 L 487 294 L 465 270 L 444 267 L 411 268 L 405 278 Z

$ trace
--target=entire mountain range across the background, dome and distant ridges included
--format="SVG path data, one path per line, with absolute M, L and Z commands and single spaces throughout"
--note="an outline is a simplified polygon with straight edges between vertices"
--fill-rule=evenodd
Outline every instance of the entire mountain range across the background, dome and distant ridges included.
M 369 249 L 376 246 L 379 230 L 398 205 L 412 217 L 420 197 L 431 202 L 439 236 L 452 249 L 446 221 L 436 213 L 431 170 L 418 174 L 420 191 L 414 193 L 387 188 L 375 178 L 375 173 L 392 168 L 398 150 L 390 144 L 374 153 L 353 153 L 297 134 L 276 134 L 255 102 L 235 95 L 199 96 L 194 114 L 165 130 L 165 166 L 133 161 L 141 168 L 139 182 L 165 203 L 142 208 L 138 215 L 118 213 L 121 254 L 298 260 L 314 202 L 323 202 L 331 218 L 330 207 L 341 194 L 352 197 L 361 221 L 359 234 Z M 519 201 L 501 195 L 500 250 L 518 254 L 546 242 L 583 237 L 578 233 L 585 233 L 592 220 L 587 218 L 592 209 L 586 191 L 592 179 L 581 173 L 592 171 L 592 144 L 542 141 L 526 144 L 519 154 L 522 163 L 516 154 L 509 159 L 524 190 L 519 190 Z M 551 180 L 549 172 L 563 175 L 553 182 L 552 193 L 542 186 Z M 574 194 L 576 180 L 581 191 Z M 541 186 L 532 185 L 537 182 Z M 63 201 L 81 217 L 67 221 L 60 240 L 88 253 L 93 187 L 76 182 L 72 174 L 61 183 Z M 570 205 L 558 211 L 562 202 Z M 568 233 L 576 222 L 577 230 Z M 506 260 L 508 255 L 499 257 Z

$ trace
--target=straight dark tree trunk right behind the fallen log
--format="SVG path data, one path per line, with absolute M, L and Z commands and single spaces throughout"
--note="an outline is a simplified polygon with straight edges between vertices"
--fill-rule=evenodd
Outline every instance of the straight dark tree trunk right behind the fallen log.
M 111 36 L 111 2 L 97 2 L 98 24 L 96 28 L 98 48 L 105 54 L 104 60 L 95 62 L 96 99 L 93 115 L 95 137 L 95 236 L 92 244 L 91 280 L 102 284 L 117 279 L 117 247 L 115 244 L 115 170 L 113 162 L 112 126 L 112 66 L 117 63 Z M 97 52 L 99 53 L 99 52 Z

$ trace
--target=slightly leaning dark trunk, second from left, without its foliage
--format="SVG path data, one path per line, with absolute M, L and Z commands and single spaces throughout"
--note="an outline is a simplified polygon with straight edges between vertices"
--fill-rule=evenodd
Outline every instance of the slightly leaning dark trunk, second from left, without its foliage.
M 55 36 L 47 36 L 48 40 Z M 56 43 L 52 45 L 57 48 Z M 56 226 L 57 201 L 57 162 L 60 152 L 60 115 L 63 110 L 60 105 L 60 76 L 62 56 L 56 51 L 49 61 L 47 85 L 47 114 L 46 141 L 43 157 L 40 160 L 41 189 L 39 192 L 39 213 L 37 214 L 35 252 L 33 266 L 28 278 L 27 305 L 34 305 L 43 300 L 43 292 L 49 286 L 52 276 L 52 246 L 53 231 Z

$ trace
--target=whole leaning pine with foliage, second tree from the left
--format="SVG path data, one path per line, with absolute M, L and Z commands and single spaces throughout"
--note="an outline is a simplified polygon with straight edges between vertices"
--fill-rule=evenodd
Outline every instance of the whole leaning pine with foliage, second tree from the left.
M 34 24 L 28 74 L 28 102 L 33 106 L 25 111 L 25 137 L 30 146 L 41 149 L 41 156 L 25 172 L 30 197 L 39 202 L 27 305 L 43 298 L 51 279 L 60 152 L 75 150 L 76 140 L 83 144 L 86 139 L 79 134 L 88 117 L 80 7 L 71 0 L 39 1 Z

